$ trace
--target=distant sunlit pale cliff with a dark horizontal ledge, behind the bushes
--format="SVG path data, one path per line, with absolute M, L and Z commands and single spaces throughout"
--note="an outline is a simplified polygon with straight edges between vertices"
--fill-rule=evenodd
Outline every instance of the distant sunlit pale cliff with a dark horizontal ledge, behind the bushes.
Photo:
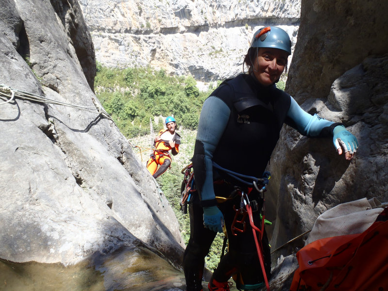
M 214 81 L 242 71 L 253 33 L 278 25 L 296 43 L 300 0 L 80 0 L 107 66 L 159 67 Z

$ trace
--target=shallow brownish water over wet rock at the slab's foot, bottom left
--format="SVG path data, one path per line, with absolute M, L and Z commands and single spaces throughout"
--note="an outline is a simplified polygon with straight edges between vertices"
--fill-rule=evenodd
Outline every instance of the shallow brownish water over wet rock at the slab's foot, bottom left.
M 183 272 L 145 248 L 94 254 L 73 266 L 0 259 L 4 291 L 185 290 Z

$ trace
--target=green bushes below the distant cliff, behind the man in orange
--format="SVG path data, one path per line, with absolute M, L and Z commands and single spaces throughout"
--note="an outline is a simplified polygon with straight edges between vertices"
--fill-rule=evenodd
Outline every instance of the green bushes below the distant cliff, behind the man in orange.
M 95 91 L 128 138 L 140 129 L 146 132 L 153 116 L 160 115 L 173 114 L 182 127 L 196 129 L 202 103 L 210 93 L 200 92 L 193 77 L 168 76 L 150 67 L 107 68 L 99 63 Z

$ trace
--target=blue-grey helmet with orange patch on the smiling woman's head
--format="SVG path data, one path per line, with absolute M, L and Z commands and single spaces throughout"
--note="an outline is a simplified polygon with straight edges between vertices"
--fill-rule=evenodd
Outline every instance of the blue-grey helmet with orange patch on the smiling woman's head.
M 262 27 L 253 34 L 250 48 L 282 49 L 291 55 L 291 40 L 288 33 L 279 27 Z

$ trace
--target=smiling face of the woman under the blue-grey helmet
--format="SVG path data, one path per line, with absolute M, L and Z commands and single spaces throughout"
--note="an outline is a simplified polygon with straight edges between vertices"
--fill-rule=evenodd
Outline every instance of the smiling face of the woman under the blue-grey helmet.
M 287 65 L 288 53 L 282 49 L 260 48 L 253 65 L 256 79 L 269 86 L 280 78 Z

